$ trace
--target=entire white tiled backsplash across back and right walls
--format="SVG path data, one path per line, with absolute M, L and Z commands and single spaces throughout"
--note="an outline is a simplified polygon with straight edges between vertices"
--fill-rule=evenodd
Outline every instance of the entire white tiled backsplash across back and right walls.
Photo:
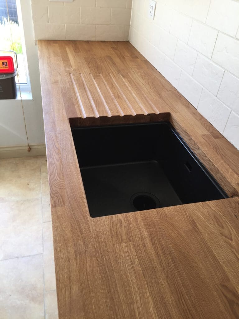
M 130 42 L 239 149 L 239 1 L 133 0 Z M 32 0 L 35 39 L 127 41 L 132 0 Z

